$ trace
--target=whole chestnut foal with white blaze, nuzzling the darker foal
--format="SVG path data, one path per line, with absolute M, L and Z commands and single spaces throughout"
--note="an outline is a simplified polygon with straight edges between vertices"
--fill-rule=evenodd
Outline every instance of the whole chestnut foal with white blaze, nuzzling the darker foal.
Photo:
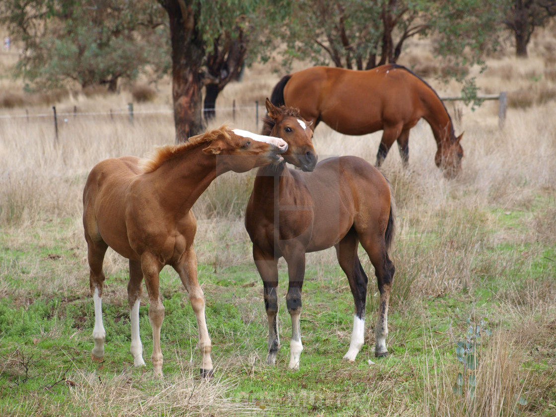
M 189 142 L 165 146 L 152 159 L 111 158 L 93 167 L 83 190 L 83 227 L 88 247 L 90 288 L 95 301 L 93 360 L 104 356 L 102 324 L 102 263 L 106 250 L 129 259 L 127 285 L 131 308 L 131 354 L 135 366 L 145 365 L 139 334 L 141 281 L 145 279 L 152 327 L 152 364 L 162 374 L 160 329 L 164 306 L 158 274 L 165 265 L 176 270 L 189 294 L 197 318 L 201 374 L 212 373 L 211 340 L 205 321 L 205 297 L 197 281 L 193 238 L 197 222 L 191 207 L 212 180 L 227 171 L 282 161 L 287 144 L 275 137 L 225 127 L 191 137 Z

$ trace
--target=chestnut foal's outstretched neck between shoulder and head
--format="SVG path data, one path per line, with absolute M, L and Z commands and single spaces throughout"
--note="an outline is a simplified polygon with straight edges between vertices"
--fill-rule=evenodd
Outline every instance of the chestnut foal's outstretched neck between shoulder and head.
M 162 163 L 148 178 L 165 205 L 175 206 L 184 215 L 217 176 L 216 157 L 206 155 L 202 148 L 192 148 Z

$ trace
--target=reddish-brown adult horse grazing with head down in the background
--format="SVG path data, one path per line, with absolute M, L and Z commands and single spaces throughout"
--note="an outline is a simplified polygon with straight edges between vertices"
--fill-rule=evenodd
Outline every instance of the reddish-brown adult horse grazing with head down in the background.
M 423 117 L 438 150 L 434 161 L 447 177 L 461 171 L 463 148 L 444 103 L 432 87 L 409 69 L 387 64 L 368 71 L 312 67 L 283 77 L 272 91 L 274 105 L 297 107 L 301 116 L 344 135 L 383 130 L 376 166 L 398 141 L 404 166 L 409 161 L 409 130 Z

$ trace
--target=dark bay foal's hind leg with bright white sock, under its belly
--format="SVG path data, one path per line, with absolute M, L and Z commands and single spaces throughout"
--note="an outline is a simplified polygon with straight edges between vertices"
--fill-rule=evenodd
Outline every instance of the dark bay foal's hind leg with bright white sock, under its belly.
M 349 350 L 344 355 L 344 359 L 352 362 L 355 360 L 365 341 L 365 300 L 368 278 L 359 261 L 357 254 L 358 246 L 359 239 L 353 230 L 335 246 L 338 262 L 347 276 L 355 304 L 353 332 L 351 333 Z

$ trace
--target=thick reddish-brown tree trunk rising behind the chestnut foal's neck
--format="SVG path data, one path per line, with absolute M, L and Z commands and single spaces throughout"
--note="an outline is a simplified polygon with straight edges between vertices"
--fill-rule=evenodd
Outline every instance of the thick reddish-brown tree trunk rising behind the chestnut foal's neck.
M 166 0 L 165 6 L 170 18 L 176 143 L 180 143 L 204 131 L 201 66 L 205 46 L 191 4 L 186 4 L 186 0 Z

